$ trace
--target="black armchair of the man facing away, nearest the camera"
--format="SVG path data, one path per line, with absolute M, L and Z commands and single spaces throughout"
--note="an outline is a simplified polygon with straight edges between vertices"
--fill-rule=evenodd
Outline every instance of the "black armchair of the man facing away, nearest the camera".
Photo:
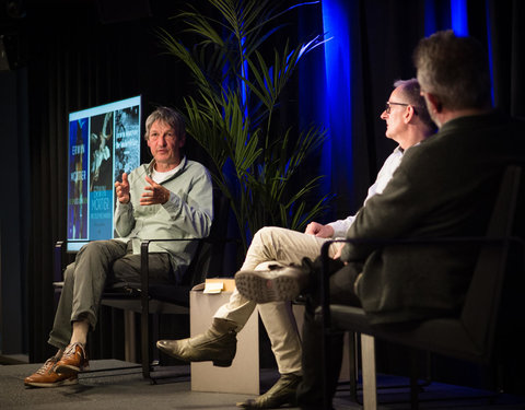
M 327 368 L 329 361 L 327 359 L 330 354 L 328 338 L 337 330 L 361 333 L 363 403 L 366 410 L 377 407 L 374 338 L 415 348 L 416 351 L 439 353 L 482 365 L 493 364 L 494 339 L 505 276 L 509 278 L 512 273 L 515 277 L 523 277 L 524 242 L 521 237 L 512 236 L 515 231 L 515 211 L 521 195 L 521 173 L 522 169 L 518 166 L 506 168 L 485 237 L 454 237 L 432 242 L 448 246 L 462 243 L 474 243 L 479 246 L 474 274 L 458 317 L 434 318 L 421 321 L 417 327 L 410 329 L 396 329 L 372 326 L 362 308 L 330 304 L 327 274 L 328 247 L 330 243 L 338 241 L 324 244 L 322 259 L 325 273 L 320 308 L 324 321 L 325 409 L 331 409 L 331 398 L 327 394 L 327 380 L 329 379 L 329 370 Z M 358 241 L 343 239 L 339 242 Z M 429 242 L 399 241 L 397 243 L 401 243 L 404 246 L 407 244 L 418 246 Z M 393 245 L 392 242 L 383 244 Z M 510 263 L 510 258 L 515 258 L 516 255 L 522 258 L 517 259 L 520 262 Z M 520 271 L 515 272 L 516 269 Z M 410 400 L 411 408 L 417 409 L 419 401 L 417 371 L 413 363 L 411 370 Z

